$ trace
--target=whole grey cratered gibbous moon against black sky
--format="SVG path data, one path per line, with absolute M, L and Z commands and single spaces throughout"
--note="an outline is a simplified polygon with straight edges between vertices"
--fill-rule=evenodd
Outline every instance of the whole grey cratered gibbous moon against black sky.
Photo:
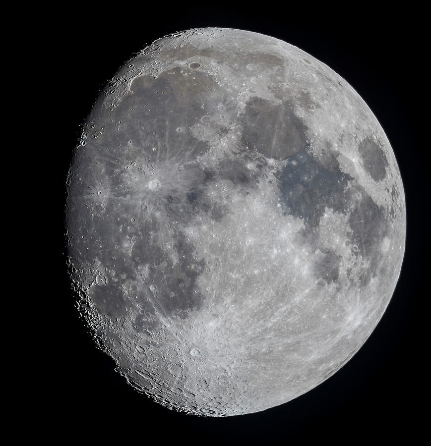
M 404 189 L 379 122 L 332 69 L 262 34 L 191 29 L 130 59 L 67 188 L 78 309 L 127 382 L 178 411 L 313 389 L 400 274 Z

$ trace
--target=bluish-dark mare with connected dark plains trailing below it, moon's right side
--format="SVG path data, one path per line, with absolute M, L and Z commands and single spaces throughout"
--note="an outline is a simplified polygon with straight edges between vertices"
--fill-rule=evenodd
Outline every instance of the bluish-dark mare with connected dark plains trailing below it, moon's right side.
M 348 215 L 353 253 L 356 256 L 361 253 L 369 259 L 369 268 L 361 278 L 363 285 L 368 284 L 377 274 L 376 266 L 381 261 L 378 248 L 387 235 L 388 224 L 391 224 L 385 210 L 375 204 L 352 176 L 341 171 L 333 152 L 324 152 L 319 160 L 308 148 L 287 161 L 286 167 L 278 174 L 279 202 L 284 213 L 303 219 L 310 239 L 315 239 L 313 232 L 318 228 L 325 208 Z M 339 265 L 340 259 L 335 253 L 325 251 L 325 258 L 317 266 L 317 271 L 325 281 L 335 281 Z

